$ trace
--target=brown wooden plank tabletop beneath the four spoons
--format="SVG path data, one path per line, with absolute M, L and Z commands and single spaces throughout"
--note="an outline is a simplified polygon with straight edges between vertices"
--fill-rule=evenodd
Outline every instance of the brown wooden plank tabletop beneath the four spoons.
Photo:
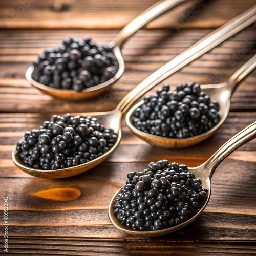
M 25 1 L 26 2 L 26 1 Z M 40 93 L 25 79 L 25 71 L 44 48 L 70 36 L 91 35 L 107 43 L 132 18 L 155 1 L 66 1 L 59 11 L 53 0 L 0 3 L 0 184 L 1 232 L 4 236 L 4 196 L 8 196 L 8 252 L 5 255 L 250 255 L 256 254 L 256 143 L 228 157 L 212 178 L 212 195 L 203 214 L 187 227 L 160 238 L 138 238 L 110 223 L 108 205 L 126 174 L 160 159 L 197 166 L 225 141 L 256 119 L 256 72 L 232 96 L 231 112 L 219 131 L 189 148 L 167 150 L 132 135 L 123 121 L 123 138 L 104 163 L 81 175 L 57 180 L 34 178 L 16 168 L 11 151 L 24 132 L 52 114 L 80 114 L 113 109 L 120 99 L 164 63 L 214 28 L 255 4 L 254 0 L 212 0 L 191 14 L 193 1 L 177 7 L 139 31 L 123 49 L 126 70 L 112 90 L 96 99 L 66 102 Z M 15 12 L 19 13 L 15 16 Z M 22 11 L 23 10 L 23 11 Z M 190 14 L 189 14 L 190 13 Z M 13 15 L 13 16 L 12 16 Z M 189 16 L 190 15 L 190 16 Z M 186 17 L 188 18 L 186 21 Z M 256 53 L 255 25 L 211 50 L 166 79 L 215 83 L 228 79 Z M 227 67 L 225 72 L 221 68 Z M 155 90 L 152 91 L 154 93 Z M 42 198 L 53 189 L 55 200 Z M 81 191 L 67 200 L 60 188 Z M 59 194 L 58 194 L 59 193 Z M 62 196 L 62 197 L 61 197 Z M 71 198 L 72 199 L 72 198 Z M 1 239 L 1 243 L 3 239 Z

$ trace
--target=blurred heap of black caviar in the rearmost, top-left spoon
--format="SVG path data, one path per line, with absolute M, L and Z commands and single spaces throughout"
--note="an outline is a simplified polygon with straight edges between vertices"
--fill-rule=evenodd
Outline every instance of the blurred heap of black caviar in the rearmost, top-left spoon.
M 90 38 L 72 36 L 62 45 L 47 49 L 33 62 L 32 78 L 57 89 L 82 91 L 115 76 L 118 62 L 115 55 Z

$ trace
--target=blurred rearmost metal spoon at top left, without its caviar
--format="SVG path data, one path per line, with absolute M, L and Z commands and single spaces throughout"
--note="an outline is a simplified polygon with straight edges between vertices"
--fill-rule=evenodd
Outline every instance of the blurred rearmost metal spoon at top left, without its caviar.
M 143 13 L 141 13 L 138 17 L 136 17 L 131 23 L 127 24 L 117 35 L 117 37 L 110 42 L 106 49 L 112 51 L 118 62 L 118 71 L 115 76 L 108 81 L 105 81 L 101 84 L 97 84 L 96 86 L 83 89 L 81 92 L 77 92 L 75 90 L 63 90 L 63 89 L 55 89 L 49 86 L 45 86 L 42 83 L 35 81 L 32 78 L 32 74 L 34 71 L 34 66 L 30 66 L 26 71 L 26 79 L 32 84 L 32 86 L 36 87 L 40 91 L 49 94 L 53 97 L 66 99 L 66 100 L 83 100 L 88 98 L 96 97 L 106 90 L 108 90 L 112 84 L 117 81 L 124 72 L 124 60 L 121 54 L 121 48 L 123 43 L 129 39 L 134 33 L 136 33 L 140 28 L 145 26 L 147 23 L 151 22 L 151 20 L 155 19 L 159 15 L 168 11 L 169 9 L 175 7 L 176 5 L 184 2 L 185 0 L 160 0 Z

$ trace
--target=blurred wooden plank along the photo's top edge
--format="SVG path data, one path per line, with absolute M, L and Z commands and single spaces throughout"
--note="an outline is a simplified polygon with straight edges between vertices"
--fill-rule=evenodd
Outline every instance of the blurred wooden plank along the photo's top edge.
M 57 1 L 56 1 L 57 2 Z M 100 2 L 59 1 L 62 9 L 54 10 L 53 1 L 1 1 L 0 28 L 122 28 L 154 0 L 101 0 Z M 212 28 L 223 25 L 255 4 L 253 0 L 188 0 L 151 22 L 148 28 Z M 61 5 L 60 5 L 61 6 Z M 94 15 L 92 15 L 92 13 Z M 102 20 L 104 22 L 102 23 Z

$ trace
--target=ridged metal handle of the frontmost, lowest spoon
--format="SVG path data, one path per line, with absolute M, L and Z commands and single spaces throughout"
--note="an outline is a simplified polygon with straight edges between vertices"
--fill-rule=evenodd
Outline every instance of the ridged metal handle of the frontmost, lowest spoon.
M 239 147 L 246 142 L 256 138 L 256 122 L 247 126 L 244 130 L 234 135 L 223 146 L 212 155 L 209 160 L 202 164 L 204 169 L 209 170 L 209 177 L 211 178 L 216 167 L 226 159 L 232 152 L 236 151 Z

